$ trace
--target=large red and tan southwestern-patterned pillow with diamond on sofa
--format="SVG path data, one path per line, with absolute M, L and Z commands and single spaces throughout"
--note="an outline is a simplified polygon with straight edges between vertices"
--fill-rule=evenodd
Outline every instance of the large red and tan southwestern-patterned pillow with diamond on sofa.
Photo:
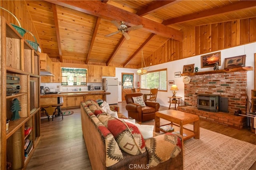
M 124 152 L 131 155 L 146 152 L 143 136 L 135 125 L 124 123 L 115 117 L 105 114 L 100 114 L 97 117 L 113 134 L 118 146 L 124 150 Z

